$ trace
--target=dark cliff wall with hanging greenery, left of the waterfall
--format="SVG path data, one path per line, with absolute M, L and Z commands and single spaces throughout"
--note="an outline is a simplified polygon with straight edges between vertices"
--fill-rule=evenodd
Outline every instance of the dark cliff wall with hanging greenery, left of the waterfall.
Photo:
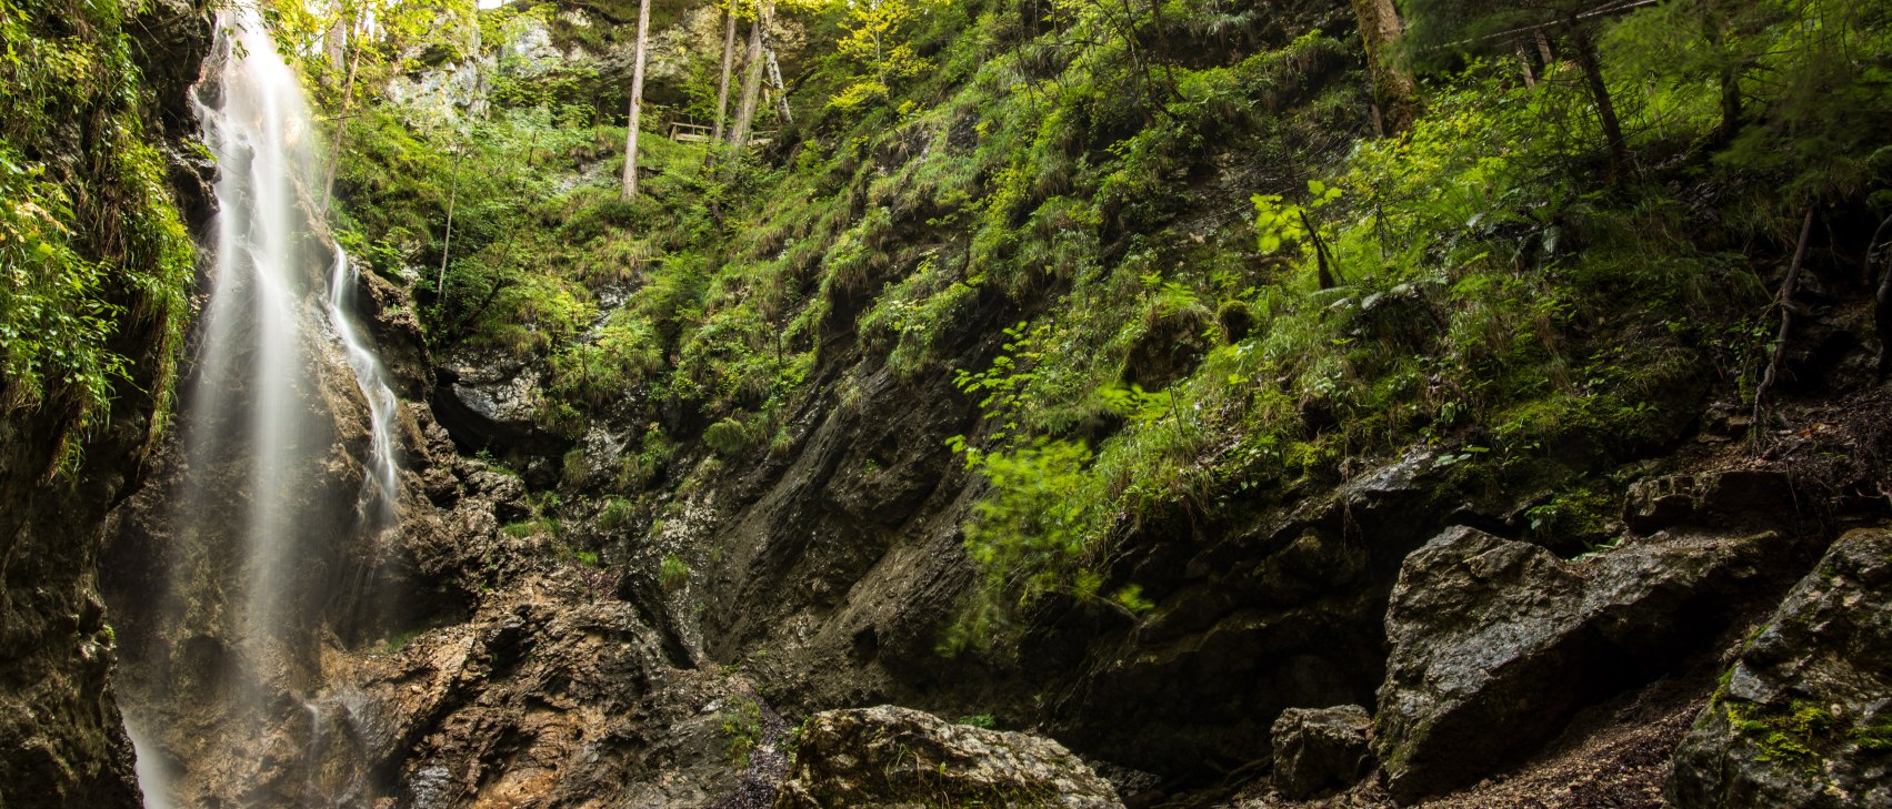
M 168 420 L 210 19 L 9 0 L 0 42 L 0 803 L 129 807 L 96 563 Z

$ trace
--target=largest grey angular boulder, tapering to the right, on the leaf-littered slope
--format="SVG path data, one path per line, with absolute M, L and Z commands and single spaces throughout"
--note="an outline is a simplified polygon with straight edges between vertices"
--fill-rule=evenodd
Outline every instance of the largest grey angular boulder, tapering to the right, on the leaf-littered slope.
M 1775 535 L 1654 537 L 1585 561 L 1453 527 L 1413 552 L 1387 609 L 1374 752 L 1400 800 L 1519 762 L 1584 705 L 1714 635 Z

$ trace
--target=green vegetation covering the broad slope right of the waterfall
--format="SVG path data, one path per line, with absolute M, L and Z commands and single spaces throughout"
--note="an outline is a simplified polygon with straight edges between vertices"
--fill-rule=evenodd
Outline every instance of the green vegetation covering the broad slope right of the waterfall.
M 543 429 L 626 425 L 598 480 L 638 514 L 787 454 L 808 397 L 857 410 L 855 353 L 914 395 L 957 380 L 988 488 L 948 648 L 1041 599 L 1137 620 L 1139 525 L 1239 525 L 1410 446 L 1466 486 L 1551 482 L 1533 531 L 1601 546 L 1601 471 L 1673 442 L 1707 386 L 1752 395 L 1807 212 L 1892 208 L 1892 23 L 1572 8 L 1408 4 L 1419 112 L 1374 138 L 1341 4 L 783 4 L 793 123 L 762 104 L 772 144 L 742 155 L 643 138 L 626 202 L 600 62 L 503 47 L 617 34 L 513 4 L 479 13 L 492 106 L 354 117 L 341 223 L 435 352 L 547 370 Z M 713 98 L 715 55 L 685 60 L 649 119 Z

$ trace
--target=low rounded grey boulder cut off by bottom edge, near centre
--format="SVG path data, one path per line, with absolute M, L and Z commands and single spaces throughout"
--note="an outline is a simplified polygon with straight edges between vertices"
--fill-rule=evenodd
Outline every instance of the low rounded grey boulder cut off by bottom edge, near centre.
M 1107 781 L 1056 741 L 948 724 L 882 705 L 812 716 L 774 805 L 1107 809 L 1122 801 Z

